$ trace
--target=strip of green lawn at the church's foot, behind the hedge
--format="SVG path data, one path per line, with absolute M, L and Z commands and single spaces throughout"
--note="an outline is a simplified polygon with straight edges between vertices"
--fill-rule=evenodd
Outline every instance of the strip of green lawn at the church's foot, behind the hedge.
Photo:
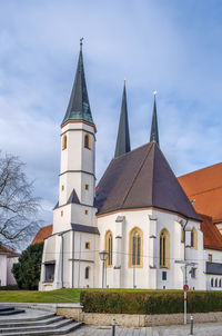
M 79 303 L 82 289 L 62 288 L 50 291 L 38 290 L 0 290 L 0 303 Z M 101 290 L 101 289 L 84 289 Z M 157 291 L 145 289 L 104 289 L 105 291 Z M 172 290 L 178 291 L 178 290 Z

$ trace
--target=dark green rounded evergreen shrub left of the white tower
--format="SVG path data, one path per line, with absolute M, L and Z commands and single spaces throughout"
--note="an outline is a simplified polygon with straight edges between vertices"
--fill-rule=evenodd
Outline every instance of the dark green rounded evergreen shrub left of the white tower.
M 41 271 L 43 243 L 30 245 L 13 264 L 12 273 L 20 289 L 38 289 Z

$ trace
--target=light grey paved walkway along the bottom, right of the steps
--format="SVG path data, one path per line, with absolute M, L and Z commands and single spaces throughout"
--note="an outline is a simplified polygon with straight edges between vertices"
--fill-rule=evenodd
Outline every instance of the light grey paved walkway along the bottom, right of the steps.
M 83 326 L 69 336 L 111 336 L 111 327 Z M 170 327 L 123 328 L 117 327 L 115 336 L 188 336 L 190 325 Z M 195 336 L 222 336 L 222 324 L 199 324 L 194 326 Z M 67 335 L 68 336 L 68 335 Z

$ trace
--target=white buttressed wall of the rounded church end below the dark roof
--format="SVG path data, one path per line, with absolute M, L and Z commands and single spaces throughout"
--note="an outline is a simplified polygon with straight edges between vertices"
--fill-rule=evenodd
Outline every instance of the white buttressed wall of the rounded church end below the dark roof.
M 123 223 L 117 223 L 118 216 L 124 216 Z M 182 221 L 182 224 L 181 224 Z M 108 267 L 107 286 L 109 287 L 133 287 L 133 277 L 138 288 L 152 289 L 182 289 L 183 273 L 182 264 L 176 260 L 184 260 L 184 243 L 182 239 L 182 225 L 185 220 L 174 214 L 161 210 L 142 210 L 119 211 L 98 218 L 98 227 L 101 234 L 100 250 L 104 249 L 104 237 L 108 230 L 113 234 L 113 267 Z M 195 289 L 205 289 L 204 277 L 204 254 L 203 254 L 203 235 L 200 230 L 200 224 L 189 221 L 188 225 L 195 227 L 198 230 L 199 249 L 186 248 L 185 257 L 196 263 L 196 277 L 191 278 L 188 269 L 188 283 Z M 129 235 L 132 228 L 139 227 L 143 231 L 143 267 L 129 267 Z M 170 234 L 170 268 L 159 267 L 159 241 L 162 229 L 168 229 Z M 120 235 L 121 239 L 115 237 Z M 120 241 L 121 240 L 121 241 Z M 118 251 L 121 250 L 120 256 Z M 121 260 L 121 261 L 120 261 Z M 121 264 L 121 265 L 120 265 Z M 120 269 L 114 269 L 121 266 Z M 162 273 L 167 271 L 167 280 L 162 279 Z M 102 263 L 100 263 L 100 279 L 102 281 Z

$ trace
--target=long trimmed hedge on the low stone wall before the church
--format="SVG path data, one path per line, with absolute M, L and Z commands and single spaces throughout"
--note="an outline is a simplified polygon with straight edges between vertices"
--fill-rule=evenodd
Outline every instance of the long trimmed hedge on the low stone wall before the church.
M 85 313 L 174 314 L 183 313 L 183 291 L 93 291 L 83 290 L 80 302 Z M 222 291 L 188 293 L 188 313 L 222 310 Z

